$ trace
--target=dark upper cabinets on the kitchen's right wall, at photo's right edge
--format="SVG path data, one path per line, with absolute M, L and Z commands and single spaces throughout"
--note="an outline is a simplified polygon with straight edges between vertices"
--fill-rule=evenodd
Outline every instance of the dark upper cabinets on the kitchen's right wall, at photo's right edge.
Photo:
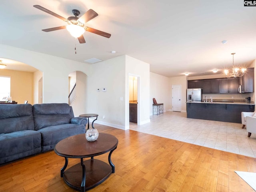
M 239 85 L 241 85 L 240 93 L 254 92 L 254 68 L 246 69 L 246 72 L 239 78 Z

